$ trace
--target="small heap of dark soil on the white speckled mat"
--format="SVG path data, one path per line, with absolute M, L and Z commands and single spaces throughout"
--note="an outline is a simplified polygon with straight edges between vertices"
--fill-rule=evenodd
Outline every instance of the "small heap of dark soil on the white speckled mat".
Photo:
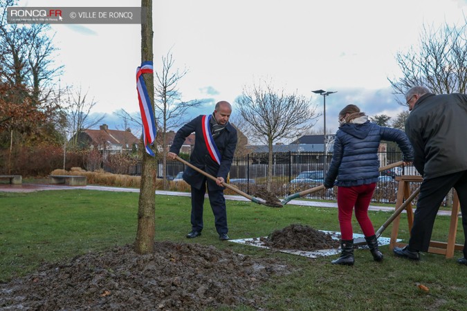
M 267 247 L 302 251 L 338 248 L 340 245 L 340 242 L 334 240 L 330 234 L 300 224 L 275 230 L 267 238 L 260 238 L 260 240 Z

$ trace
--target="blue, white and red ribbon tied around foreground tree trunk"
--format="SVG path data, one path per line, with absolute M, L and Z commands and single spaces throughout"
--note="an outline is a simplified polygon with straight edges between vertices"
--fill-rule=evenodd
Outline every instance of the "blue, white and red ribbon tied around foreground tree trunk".
M 147 94 L 145 79 L 143 79 L 143 73 L 153 72 L 152 62 L 143 62 L 140 67 L 136 68 L 136 89 L 138 90 L 141 121 L 143 122 L 143 141 L 146 152 L 154 157 L 154 151 L 149 146 L 154 144 L 154 140 L 156 140 L 156 122 L 154 122 L 151 100 Z

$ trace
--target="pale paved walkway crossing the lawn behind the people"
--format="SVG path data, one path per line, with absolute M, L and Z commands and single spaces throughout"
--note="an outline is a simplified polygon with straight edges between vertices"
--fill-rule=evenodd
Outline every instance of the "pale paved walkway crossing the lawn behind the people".
M 0 184 L 0 192 L 34 192 L 34 191 L 46 191 L 46 190 L 75 190 L 75 189 L 85 189 L 85 190 L 98 190 L 98 191 L 113 191 L 113 192 L 134 192 L 139 193 L 140 189 L 135 188 L 120 188 L 120 187 L 105 187 L 105 186 L 66 186 L 66 185 L 47 185 L 47 184 L 22 184 L 22 185 L 9 185 L 9 184 Z M 165 196 L 190 196 L 188 192 L 176 192 L 176 191 L 161 191 L 156 190 L 156 194 L 162 194 Z M 231 196 L 226 195 L 226 200 L 237 200 L 237 201 L 248 201 L 247 198 L 243 196 Z M 335 202 L 315 202 L 309 200 L 291 200 L 287 205 L 300 205 L 300 206 L 313 206 L 313 207 L 333 207 L 337 208 L 337 203 Z M 394 211 L 394 207 L 383 207 L 370 205 L 370 211 Z M 405 211 L 403 211 L 405 213 Z M 438 211 L 438 215 L 450 216 L 451 211 Z M 461 213 L 459 212 L 459 217 Z

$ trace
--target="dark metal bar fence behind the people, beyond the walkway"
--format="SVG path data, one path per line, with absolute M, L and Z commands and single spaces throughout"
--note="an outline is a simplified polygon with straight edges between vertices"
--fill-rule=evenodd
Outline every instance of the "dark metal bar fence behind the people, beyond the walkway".
M 402 160 L 401 151 L 378 153 L 381 166 L 398 162 Z M 278 197 L 295 194 L 299 191 L 310 189 L 322 185 L 322 175 L 324 172 L 324 163 L 326 167 L 332 159 L 332 153 L 327 153 L 324 158 L 323 152 L 286 152 L 273 153 L 273 165 L 271 179 L 271 191 Z M 162 160 L 158 161 L 158 177 L 162 176 Z M 166 174 L 169 178 L 176 176 L 180 171 L 184 171 L 184 164 L 178 161 L 167 160 Z M 136 169 L 138 171 L 138 169 Z M 140 171 L 140 169 L 139 169 Z M 315 180 L 295 180 L 300 173 L 304 171 L 322 172 L 320 178 Z M 396 202 L 397 182 L 394 180 L 396 175 L 418 175 L 413 167 L 401 167 L 398 170 L 382 172 L 373 196 L 373 202 Z M 234 158 L 230 169 L 230 183 L 235 185 L 241 191 L 255 196 L 258 187 L 266 185 L 268 176 L 268 154 L 267 153 L 249 153 L 244 157 Z M 335 187 L 336 188 L 336 187 Z M 233 193 L 226 190 L 226 193 Z M 306 198 L 336 200 L 336 189 L 327 191 L 317 191 Z

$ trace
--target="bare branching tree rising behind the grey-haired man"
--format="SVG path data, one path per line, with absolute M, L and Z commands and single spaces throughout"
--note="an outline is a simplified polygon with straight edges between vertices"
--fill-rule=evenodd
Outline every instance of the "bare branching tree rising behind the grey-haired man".
M 467 22 L 467 20 L 466 20 Z M 467 91 L 467 23 L 439 29 L 423 28 L 419 46 L 396 55 L 402 77 L 388 79 L 394 94 L 412 86 L 426 86 L 435 94 Z M 397 99 L 402 106 L 408 106 Z

